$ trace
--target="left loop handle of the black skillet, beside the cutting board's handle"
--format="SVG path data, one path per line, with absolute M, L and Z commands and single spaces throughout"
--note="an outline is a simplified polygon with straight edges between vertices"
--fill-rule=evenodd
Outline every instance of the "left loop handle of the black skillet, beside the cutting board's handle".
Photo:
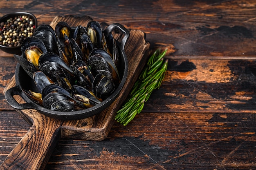
M 11 107 L 13 107 L 14 109 L 38 109 L 34 103 L 18 103 L 13 97 L 14 95 L 19 95 L 25 100 L 27 98 L 27 96 L 22 93 L 19 86 L 8 89 L 5 92 L 4 96 L 9 105 L 11 105 Z

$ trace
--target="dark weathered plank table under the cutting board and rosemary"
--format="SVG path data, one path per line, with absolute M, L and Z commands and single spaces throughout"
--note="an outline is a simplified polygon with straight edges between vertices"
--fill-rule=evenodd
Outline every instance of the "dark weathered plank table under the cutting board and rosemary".
M 256 169 L 256 2 L 254 0 L 4 0 L 0 16 L 91 16 L 146 33 L 168 48 L 168 70 L 141 114 L 115 122 L 103 141 L 61 138 L 47 170 Z M 0 163 L 30 125 L 3 89 L 16 60 L 0 51 Z

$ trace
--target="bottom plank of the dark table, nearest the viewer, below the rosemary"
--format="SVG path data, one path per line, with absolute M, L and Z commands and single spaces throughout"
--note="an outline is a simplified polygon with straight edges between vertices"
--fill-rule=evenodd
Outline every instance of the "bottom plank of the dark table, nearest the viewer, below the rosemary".
M 10 113 L 6 112 L 6 114 Z M 13 116 L 17 117 L 15 112 Z M 3 118 L 9 124 L 10 118 L 6 116 Z M 115 123 L 104 141 L 61 139 L 46 169 L 65 169 L 65 167 L 104 169 L 110 165 L 113 169 L 125 166 L 135 169 L 146 167 L 170 169 L 180 166 L 193 167 L 193 169 L 213 166 L 218 169 L 254 168 L 256 167 L 254 120 L 255 114 L 141 112 L 126 127 Z M 22 120 L 12 122 L 18 128 L 27 125 Z M 28 128 L 29 126 L 19 132 L 20 137 Z M 11 130 L 9 134 L 1 134 L 1 139 L 3 136 L 7 139 L 10 134 L 15 136 L 15 129 L 13 127 L 13 131 Z M 10 139 L 13 143 L 11 147 L 14 147 L 18 141 L 18 139 Z M 2 143 L 1 158 L 4 157 L 4 147 L 6 145 Z M 5 157 L 7 154 L 5 152 Z

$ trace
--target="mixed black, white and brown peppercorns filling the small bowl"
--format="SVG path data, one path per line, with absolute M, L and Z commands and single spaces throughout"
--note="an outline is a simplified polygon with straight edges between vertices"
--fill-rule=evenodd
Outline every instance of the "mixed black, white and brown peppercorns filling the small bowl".
M 29 16 L 17 16 L 0 23 L 0 45 L 20 46 L 22 41 L 32 36 L 35 23 Z

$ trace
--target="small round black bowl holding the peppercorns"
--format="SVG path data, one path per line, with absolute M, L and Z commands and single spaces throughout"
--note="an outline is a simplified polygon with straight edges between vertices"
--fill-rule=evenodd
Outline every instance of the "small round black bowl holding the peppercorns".
M 9 13 L 9 14 L 4 15 L 0 18 L 0 23 L 1 22 L 6 22 L 9 18 L 13 18 L 13 17 L 16 17 L 16 16 L 29 16 L 30 18 L 32 18 L 32 20 L 34 21 L 34 25 L 35 25 L 35 28 L 34 28 L 34 31 L 35 31 L 35 29 L 37 27 L 37 20 L 36 20 L 36 17 L 32 13 L 27 13 L 27 12 Z M 11 53 L 11 54 L 17 54 L 17 55 L 21 54 L 21 47 L 20 46 L 7 47 L 7 46 L 4 46 L 4 45 L 0 45 L 0 49 L 4 52 Z

